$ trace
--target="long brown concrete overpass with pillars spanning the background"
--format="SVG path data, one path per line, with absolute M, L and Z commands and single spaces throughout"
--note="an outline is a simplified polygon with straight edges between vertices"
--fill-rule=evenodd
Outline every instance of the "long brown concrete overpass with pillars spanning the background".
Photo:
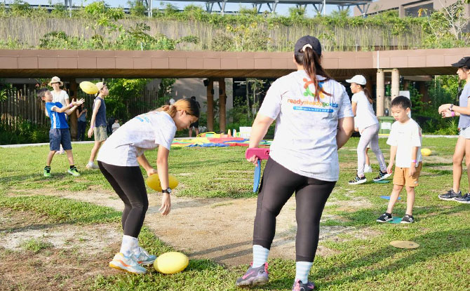
M 338 81 L 363 74 L 369 83 L 377 83 L 377 115 L 383 116 L 385 73 L 391 73 L 394 97 L 398 95 L 400 75 L 455 74 L 456 69 L 450 64 L 469 55 L 470 48 L 325 52 L 322 62 Z M 227 102 L 226 78 L 276 78 L 294 70 L 293 53 L 0 50 L 0 77 L 208 78 L 208 129 L 213 129 L 213 98 L 219 93 L 222 131 Z M 214 83 L 219 84 L 217 92 Z M 71 83 L 71 89 L 76 91 L 76 83 Z M 189 92 L 182 95 L 189 95 Z

